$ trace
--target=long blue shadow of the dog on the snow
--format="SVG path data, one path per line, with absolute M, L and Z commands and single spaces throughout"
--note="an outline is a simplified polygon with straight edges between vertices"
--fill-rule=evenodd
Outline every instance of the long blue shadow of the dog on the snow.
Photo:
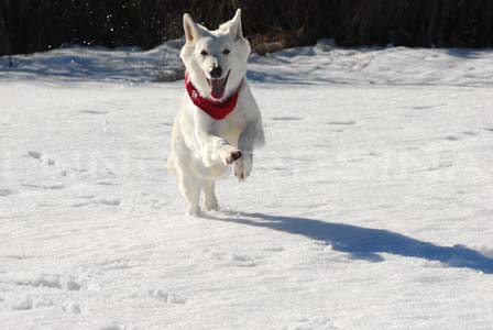
M 264 213 L 231 213 L 213 220 L 269 228 L 330 244 L 335 251 L 349 253 L 353 258 L 381 262 L 379 253 L 438 261 L 450 267 L 465 267 L 493 274 L 493 258 L 463 245 L 439 246 L 388 230 L 326 222 L 309 218 L 270 216 Z

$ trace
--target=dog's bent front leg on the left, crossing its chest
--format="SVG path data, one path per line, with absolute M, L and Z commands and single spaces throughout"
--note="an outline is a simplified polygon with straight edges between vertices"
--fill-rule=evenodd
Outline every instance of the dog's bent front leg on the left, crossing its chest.
M 242 156 L 241 151 L 229 144 L 228 140 L 218 136 L 213 122 L 208 119 L 201 120 L 202 122 L 196 125 L 195 134 L 200 146 L 200 156 L 206 166 L 218 163 L 229 165 Z

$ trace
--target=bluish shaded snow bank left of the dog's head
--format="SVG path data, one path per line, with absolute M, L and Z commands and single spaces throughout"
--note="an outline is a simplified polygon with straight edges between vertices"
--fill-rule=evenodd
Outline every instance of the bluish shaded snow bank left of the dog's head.
M 33 55 L 0 57 L 0 79 L 56 81 L 169 81 L 183 78 L 180 40 L 139 48 L 67 46 Z M 12 62 L 12 67 L 10 67 Z

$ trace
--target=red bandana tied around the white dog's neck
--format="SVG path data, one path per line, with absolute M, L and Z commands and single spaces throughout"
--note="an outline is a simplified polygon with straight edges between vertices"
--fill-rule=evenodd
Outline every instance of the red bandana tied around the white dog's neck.
M 202 98 L 198 90 L 195 88 L 194 84 L 191 84 L 190 79 L 188 79 L 188 73 L 185 73 L 185 88 L 187 89 L 188 96 L 190 97 L 194 105 L 197 106 L 200 110 L 207 112 L 207 114 L 209 114 L 213 119 L 218 120 L 224 119 L 231 111 L 234 110 L 242 82 L 240 82 L 240 86 L 238 86 L 232 96 L 230 96 L 222 102 L 216 102 Z

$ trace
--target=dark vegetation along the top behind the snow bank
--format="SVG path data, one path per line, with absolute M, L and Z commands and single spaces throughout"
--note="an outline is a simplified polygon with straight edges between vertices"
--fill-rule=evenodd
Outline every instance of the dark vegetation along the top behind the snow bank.
M 64 44 L 151 48 L 182 14 L 217 28 L 243 9 L 253 50 L 333 37 L 339 45 L 493 46 L 493 0 L 0 0 L 0 55 Z

